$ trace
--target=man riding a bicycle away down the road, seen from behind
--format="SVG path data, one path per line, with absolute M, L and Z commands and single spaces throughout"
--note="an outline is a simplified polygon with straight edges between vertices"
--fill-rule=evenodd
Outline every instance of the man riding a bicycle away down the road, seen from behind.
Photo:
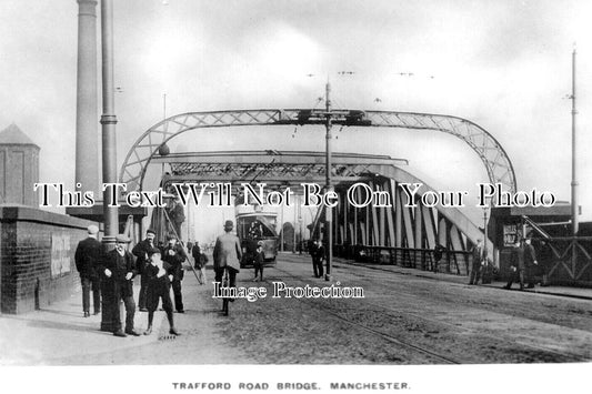
M 224 270 L 228 270 L 230 286 L 237 284 L 237 273 L 240 270 L 242 250 L 239 238 L 232 233 L 234 223 L 227 220 L 224 223 L 224 233 L 215 240 L 213 249 L 213 269 L 215 271 L 215 282 L 222 283 Z

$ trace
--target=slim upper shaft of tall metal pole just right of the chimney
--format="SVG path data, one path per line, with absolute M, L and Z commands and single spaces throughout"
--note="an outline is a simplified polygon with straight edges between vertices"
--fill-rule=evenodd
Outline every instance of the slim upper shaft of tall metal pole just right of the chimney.
M 102 47 L 102 154 L 103 183 L 117 182 L 117 145 L 114 94 L 113 94 L 113 0 L 101 1 L 101 47 Z M 119 232 L 118 208 L 111 201 L 111 190 L 103 191 L 104 238 L 108 249 L 114 247 Z

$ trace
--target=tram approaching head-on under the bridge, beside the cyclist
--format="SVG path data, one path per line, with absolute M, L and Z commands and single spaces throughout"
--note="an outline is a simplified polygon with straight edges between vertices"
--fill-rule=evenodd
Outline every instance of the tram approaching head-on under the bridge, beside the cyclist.
M 274 266 L 278 256 L 279 236 L 275 230 L 278 213 L 264 211 L 261 206 L 237 206 L 237 234 L 242 246 L 241 267 L 253 265 L 257 245 L 263 245 L 263 265 Z

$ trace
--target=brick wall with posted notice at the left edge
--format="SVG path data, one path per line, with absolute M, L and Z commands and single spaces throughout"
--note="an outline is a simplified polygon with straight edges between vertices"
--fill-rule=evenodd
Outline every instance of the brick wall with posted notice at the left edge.
M 32 208 L 0 206 L 1 312 L 42 309 L 78 291 L 74 252 L 91 223 Z

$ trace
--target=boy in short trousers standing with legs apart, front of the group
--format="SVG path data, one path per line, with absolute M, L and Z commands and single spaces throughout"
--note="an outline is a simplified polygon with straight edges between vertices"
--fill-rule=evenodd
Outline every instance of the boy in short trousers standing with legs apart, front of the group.
M 144 335 L 150 335 L 152 333 L 152 321 L 154 320 L 154 311 L 158 307 L 160 299 L 162 299 L 162 309 L 167 313 L 167 319 L 169 320 L 169 333 L 172 335 L 180 335 L 177 329 L 174 327 L 174 320 L 172 316 L 172 266 L 161 260 L 160 250 L 153 247 L 148 253 L 150 256 L 150 261 L 144 267 L 144 273 L 148 277 L 148 327 L 144 332 Z

